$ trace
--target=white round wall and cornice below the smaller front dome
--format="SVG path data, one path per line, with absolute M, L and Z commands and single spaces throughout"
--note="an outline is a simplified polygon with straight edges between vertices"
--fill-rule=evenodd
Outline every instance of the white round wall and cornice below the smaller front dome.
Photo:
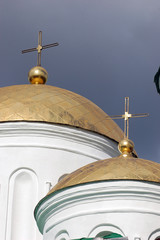
M 65 239 L 60 237 L 64 231 L 70 239 L 107 231 L 129 240 L 155 239 L 151 236 L 160 224 L 160 186 L 108 181 L 71 187 L 44 200 L 36 219 L 44 240 Z

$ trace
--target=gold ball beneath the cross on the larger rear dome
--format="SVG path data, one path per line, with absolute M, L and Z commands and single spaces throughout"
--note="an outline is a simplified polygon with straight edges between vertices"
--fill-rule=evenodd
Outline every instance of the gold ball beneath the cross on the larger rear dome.
M 45 84 L 48 78 L 46 69 L 41 66 L 31 68 L 28 73 L 28 80 L 31 84 Z

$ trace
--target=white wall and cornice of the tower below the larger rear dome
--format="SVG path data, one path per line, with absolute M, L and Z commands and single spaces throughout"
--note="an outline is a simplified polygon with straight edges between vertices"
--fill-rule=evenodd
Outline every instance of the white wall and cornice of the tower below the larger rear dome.
M 27 225 L 27 219 L 34 221 L 32 214 L 38 200 L 62 175 L 118 155 L 114 141 L 78 128 L 35 122 L 1 123 L 0 126 L 1 240 L 19 240 L 21 236 L 28 236 L 23 240 L 41 239 L 38 230 L 36 235 L 34 232 L 36 223 L 32 231 Z M 22 213 L 23 205 L 26 211 Z M 12 210 L 12 206 L 15 209 Z M 21 222 L 21 227 L 15 222 Z

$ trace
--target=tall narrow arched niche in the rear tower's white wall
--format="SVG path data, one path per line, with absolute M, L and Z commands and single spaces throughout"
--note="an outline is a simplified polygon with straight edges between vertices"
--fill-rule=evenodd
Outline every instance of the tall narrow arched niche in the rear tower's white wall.
M 36 174 L 26 168 L 14 171 L 9 180 L 6 240 L 36 239 L 33 211 L 37 201 Z

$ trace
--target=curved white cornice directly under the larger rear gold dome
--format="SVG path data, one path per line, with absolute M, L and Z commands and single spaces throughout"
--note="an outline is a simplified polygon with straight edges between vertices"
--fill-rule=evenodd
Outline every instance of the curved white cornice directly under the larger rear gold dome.
M 83 152 L 77 150 L 77 144 L 84 147 Z M 95 160 L 101 159 L 99 152 L 110 157 L 119 155 L 115 141 L 80 128 L 39 122 L 0 123 L 0 148 L 25 146 L 69 151 Z M 89 148 L 94 154 L 88 153 Z

